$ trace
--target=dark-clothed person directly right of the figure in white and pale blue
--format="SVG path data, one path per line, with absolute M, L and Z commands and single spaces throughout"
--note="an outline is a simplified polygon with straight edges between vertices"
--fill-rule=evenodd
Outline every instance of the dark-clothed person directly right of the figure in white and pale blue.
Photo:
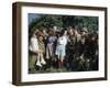
M 76 43 L 76 36 L 74 29 L 70 29 L 68 31 L 68 41 L 66 45 L 66 67 L 68 70 L 72 70 L 73 68 L 73 61 L 75 59 L 75 43 Z

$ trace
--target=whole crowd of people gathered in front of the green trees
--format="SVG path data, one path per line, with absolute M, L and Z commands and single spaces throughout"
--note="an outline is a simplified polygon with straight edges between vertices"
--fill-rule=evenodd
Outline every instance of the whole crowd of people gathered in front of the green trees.
M 87 28 L 35 30 L 29 46 L 30 70 L 98 70 L 98 33 Z

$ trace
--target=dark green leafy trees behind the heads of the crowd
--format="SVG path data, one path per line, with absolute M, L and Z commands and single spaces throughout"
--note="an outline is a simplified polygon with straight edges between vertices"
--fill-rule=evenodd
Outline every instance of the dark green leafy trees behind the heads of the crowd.
M 79 16 L 79 15 L 54 15 L 54 14 L 40 14 L 34 19 L 30 25 L 30 31 L 35 29 L 50 29 L 53 25 L 58 28 L 67 26 L 81 26 L 87 28 L 88 31 L 98 31 L 97 16 Z

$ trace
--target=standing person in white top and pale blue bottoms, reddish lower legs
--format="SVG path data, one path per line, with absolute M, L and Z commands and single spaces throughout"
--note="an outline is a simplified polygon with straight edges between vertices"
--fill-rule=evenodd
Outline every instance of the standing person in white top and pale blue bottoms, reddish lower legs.
M 56 55 L 58 57 L 58 67 L 63 68 L 64 59 L 66 55 L 66 44 L 67 44 L 67 31 L 62 31 L 61 36 L 57 40 Z

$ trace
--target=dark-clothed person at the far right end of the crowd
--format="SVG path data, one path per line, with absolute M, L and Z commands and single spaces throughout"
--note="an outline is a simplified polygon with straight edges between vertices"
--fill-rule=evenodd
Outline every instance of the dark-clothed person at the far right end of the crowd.
M 88 54 L 90 58 L 90 69 L 98 70 L 98 34 L 90 34 L 90 43 L 88 45 Z

